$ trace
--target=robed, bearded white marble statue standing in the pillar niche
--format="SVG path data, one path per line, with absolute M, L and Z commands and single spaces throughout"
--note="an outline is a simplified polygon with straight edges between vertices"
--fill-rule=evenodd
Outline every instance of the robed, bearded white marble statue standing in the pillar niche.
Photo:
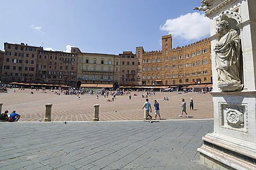
M 221 38 L 215 46 L 216 64 L 218 71 L 218 82 L 228 85 L 239 85 L 239 58 L 241 41 L 236 30 L 229 27 L 226 20 L 220 21 L 218 33 Z

